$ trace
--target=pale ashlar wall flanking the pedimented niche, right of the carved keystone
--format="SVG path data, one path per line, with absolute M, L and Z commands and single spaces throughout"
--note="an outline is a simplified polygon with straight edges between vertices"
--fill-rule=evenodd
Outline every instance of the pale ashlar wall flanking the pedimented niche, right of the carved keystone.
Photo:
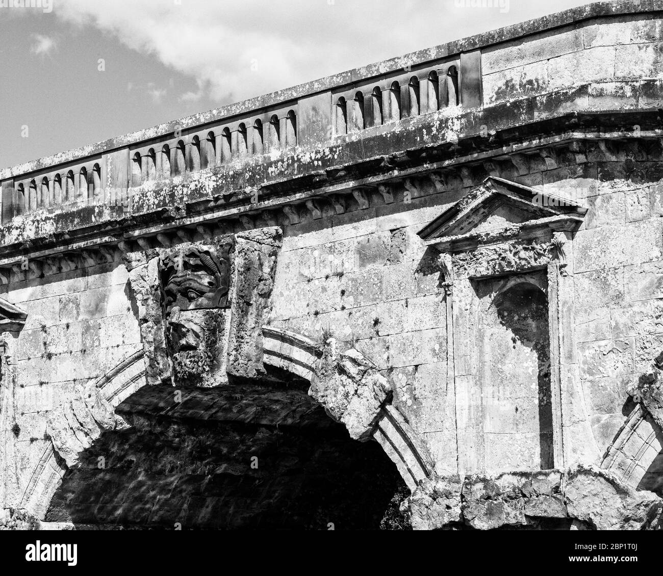
M 585 158 L 515 182 L 589 206 L 573 240 L 575 351 L 584 408 L 601 457 L 633 410 L 627 389 L 663 351 L 658 162 Z M 318 341 L 355 342 L 392 383 L 394 406 L 425 439 L 440 474 L 456 471 L 446 294 L 435 254 L 416 235 L 471 187 L 322 217 L 284 231 L 271 323 Z M 585 464 L 589 464 L 586 462 Z

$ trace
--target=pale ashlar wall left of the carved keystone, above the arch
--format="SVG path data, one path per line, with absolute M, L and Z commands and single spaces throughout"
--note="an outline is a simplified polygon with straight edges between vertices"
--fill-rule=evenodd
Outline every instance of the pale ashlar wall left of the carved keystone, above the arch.
M 77 386 L 96 380 L 142 349 L 120 255 L 111 252 L 109 262 L 89 262 L 87 267 L 3 286 L 1 297 L 28 314 L 13 343 L 15 397 L 3 403 L 0 414 L 7 459 L 5 506 L 20 502 L 50 443 L 46 435 L 50 410 L 73 397 Z

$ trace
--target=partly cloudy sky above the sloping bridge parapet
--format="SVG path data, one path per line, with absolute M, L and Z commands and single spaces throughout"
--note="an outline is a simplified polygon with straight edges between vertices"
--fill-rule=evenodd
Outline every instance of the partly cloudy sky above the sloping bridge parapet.
M 590 3 L 21 1 L 0 0 L 0 168 Z

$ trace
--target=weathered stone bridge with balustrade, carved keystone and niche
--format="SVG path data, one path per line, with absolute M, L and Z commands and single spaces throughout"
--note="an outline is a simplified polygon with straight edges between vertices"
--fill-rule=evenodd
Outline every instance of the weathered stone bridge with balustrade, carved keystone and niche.
M 0 170 L 0 523 L 656 528 L 663 7 Z

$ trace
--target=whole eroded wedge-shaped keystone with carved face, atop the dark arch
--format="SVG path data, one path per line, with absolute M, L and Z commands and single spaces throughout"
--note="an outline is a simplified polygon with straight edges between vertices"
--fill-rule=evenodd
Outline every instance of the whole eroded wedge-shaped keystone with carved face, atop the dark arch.
M 129 253 L 149 384 L 219 386 L 264 372 L 278 227 Z

